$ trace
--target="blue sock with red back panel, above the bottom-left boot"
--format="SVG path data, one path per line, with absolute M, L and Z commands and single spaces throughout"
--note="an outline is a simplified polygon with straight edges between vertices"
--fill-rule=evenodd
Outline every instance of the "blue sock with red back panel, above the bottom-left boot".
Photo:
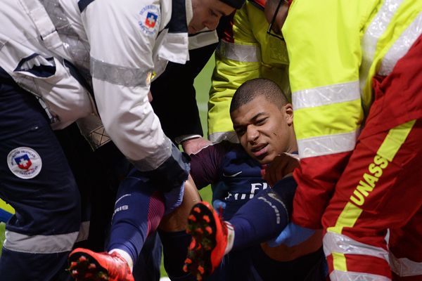
M 160 192 L 137 171 L 117 191 L 107 251 L 122 249 L 136 263 L 146 237 L 158 227 L 165 206 Z

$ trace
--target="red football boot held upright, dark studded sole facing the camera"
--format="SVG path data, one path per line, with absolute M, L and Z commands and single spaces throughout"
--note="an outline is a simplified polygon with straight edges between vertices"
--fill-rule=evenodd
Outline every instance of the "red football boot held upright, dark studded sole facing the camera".
M 227 224 L 212 206 L 200 202 L 188 216 L 186 232 L 192 235 L 184 271 L 197 280 L 210 275 L 221 263 L 227 245 Z

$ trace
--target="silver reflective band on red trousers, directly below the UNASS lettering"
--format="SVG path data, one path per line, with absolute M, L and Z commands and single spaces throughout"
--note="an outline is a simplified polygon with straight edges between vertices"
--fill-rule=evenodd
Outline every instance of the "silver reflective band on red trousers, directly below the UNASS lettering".
M 339 233 L 327 232 L 324 235 L 324 253 L 326 256 L 332 252 L 340 254 L 359 254 L 364 256 L 376 256 L 388 261 L 388 251 L 380 247 L 357 242 L 350 237 Z

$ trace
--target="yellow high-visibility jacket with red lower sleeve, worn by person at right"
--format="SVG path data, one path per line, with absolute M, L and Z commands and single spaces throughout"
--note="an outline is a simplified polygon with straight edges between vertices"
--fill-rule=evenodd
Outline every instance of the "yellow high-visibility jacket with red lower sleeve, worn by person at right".
M 293 0 L 282 32 L 301 158 L 293 221 L 301 226 L 321 228 L 373 103 L 372 78 L 392 72 L 421 36 L 421 11 L 415 0 Z

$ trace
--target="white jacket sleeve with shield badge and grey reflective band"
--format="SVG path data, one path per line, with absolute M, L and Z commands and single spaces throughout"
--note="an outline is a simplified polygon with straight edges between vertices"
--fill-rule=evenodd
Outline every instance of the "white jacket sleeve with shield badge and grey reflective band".
M 82 13 L 98 112 L 115 145 L 141 171 L 172 153 L 148 103 L 160 16 L 154 0 L 94 1 Z

